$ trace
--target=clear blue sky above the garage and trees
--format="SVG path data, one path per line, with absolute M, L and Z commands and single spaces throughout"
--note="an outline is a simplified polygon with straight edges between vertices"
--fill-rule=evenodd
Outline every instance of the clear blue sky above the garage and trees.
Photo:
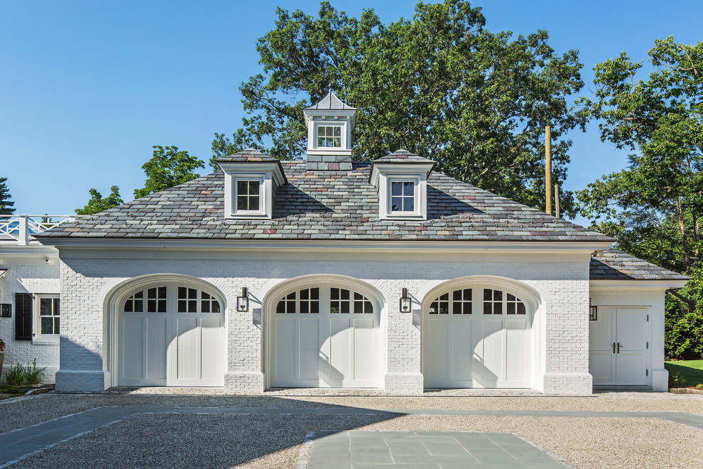
M 415 3 L 332 1 L 349 16 L 372 8 L 384 23 L 411 18 Z M 106 196 L 111 185 L 131 200 L 153 145 L 207 165 L 214 132 L 231 134 L 245 115 L 239 85 L 261 70 L 256 40 L 274 28 L 276 6 L 317 14 L 319 1 L 0 0 L 0 177 L 16 214 L 72 214 L 89 188 Z M 587 96 L 596 63 L 623 50 L 646 61 L 655 38 L 703 40 L 701 0 L 472 6 L 489 31 L 543 29 L 557 53 L 578 49 Z M 626 165 L 628 152 L 602 143 L 596 123 L 568 137 L 567 190 Z

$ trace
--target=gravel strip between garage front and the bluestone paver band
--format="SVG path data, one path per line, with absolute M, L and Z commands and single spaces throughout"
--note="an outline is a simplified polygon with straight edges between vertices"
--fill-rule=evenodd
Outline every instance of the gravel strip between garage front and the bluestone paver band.
M 372 409 L 670 411 L 703 415 L 703 396 L 646 392 L 595 394 L 594 397 L 234 397 L 50 393 L 0 401 L 0 422 L 3 431 L 10 431 L 101 406 L 349 406 Z

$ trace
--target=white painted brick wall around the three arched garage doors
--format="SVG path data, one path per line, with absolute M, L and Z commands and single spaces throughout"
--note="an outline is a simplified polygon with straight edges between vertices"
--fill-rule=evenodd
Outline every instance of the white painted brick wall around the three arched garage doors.
M 182 274 L 219 289 L 227 310 L 226 387 L 233 392 L 261 392 L 267 382 L 266 344 L 261 301 L 266 293 L 298 276 L 349 276 L 374 287 L 385 298 L 381 311 L 383 357 L 381 383 L 386 392 L 419 394 L 423 390 L 420 302 L 445 281 L 464 276 L 500 276 L 521 282 L 541 297 L 535 315 L 535 382 L 549 393 L 587 394 L 588 260 L 587 254 L 415 254 L 397 252 L 107 252 L 62 250 L 62 346 L 57 387 L 99 391 L 114 385 L 106 304 L 111 289 L 148 274 Z M 412 260 L 403 260 L 410 259 Z M 234 312 L 242 287 L 249 289 L 247 313 Z M 400 291 L 413 296 L 413 314 L 398 311 Z

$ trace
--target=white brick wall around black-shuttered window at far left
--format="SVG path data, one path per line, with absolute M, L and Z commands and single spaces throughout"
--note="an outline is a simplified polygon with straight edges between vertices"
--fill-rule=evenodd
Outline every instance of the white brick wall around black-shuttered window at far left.
M 58 252 L 53 254 L 9 254 L 0 249 L 0 266 L 7 269 L 0 277 L 0 303 L 12 305 L 12 317 L 0 318 L 0 339 L 6 344 L 3 370 L 13 365 L 26 366 L 36 360 L 37 367 L 45 367 L 44 382 L 54 382 L 59 365 L 59 346 L 47 341 L 15 340 L 15 293 L 59 293 Z M 45 259 L 50 258 L 52 264 Z M 4 380 L 4 372 L 2 380 Z

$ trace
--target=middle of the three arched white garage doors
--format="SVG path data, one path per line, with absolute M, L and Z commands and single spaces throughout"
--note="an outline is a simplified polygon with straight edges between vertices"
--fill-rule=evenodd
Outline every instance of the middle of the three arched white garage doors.
M 378 387 L 378 305 L 353 288 L 316 284 L 271 311 L 271 387 Z

